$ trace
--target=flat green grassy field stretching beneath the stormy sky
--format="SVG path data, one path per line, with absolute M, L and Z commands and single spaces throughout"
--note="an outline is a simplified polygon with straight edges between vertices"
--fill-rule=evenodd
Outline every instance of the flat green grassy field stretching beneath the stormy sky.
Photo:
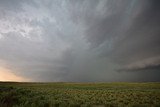
M 160 83 L 0 82 L 0 107 L 160 107 Z

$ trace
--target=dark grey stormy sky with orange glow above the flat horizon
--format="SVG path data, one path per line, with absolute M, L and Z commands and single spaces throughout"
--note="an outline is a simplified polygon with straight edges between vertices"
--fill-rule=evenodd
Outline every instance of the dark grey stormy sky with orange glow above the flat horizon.
M 0 81 L 160 81 L 159 0 L 0 0 Z

